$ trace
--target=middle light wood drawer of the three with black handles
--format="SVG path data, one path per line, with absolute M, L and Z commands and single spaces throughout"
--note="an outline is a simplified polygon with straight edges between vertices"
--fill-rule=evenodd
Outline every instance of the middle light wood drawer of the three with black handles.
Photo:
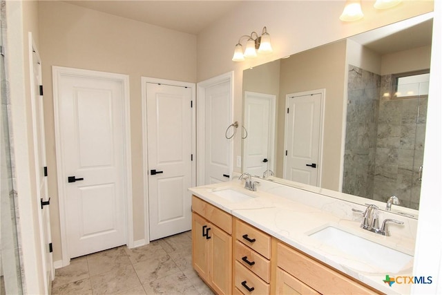
M 256 251 L 244 246 L 238 240 L 235 242 L 235 259 L 267 283 L 270 283 L 270 261 L 260 256 Z

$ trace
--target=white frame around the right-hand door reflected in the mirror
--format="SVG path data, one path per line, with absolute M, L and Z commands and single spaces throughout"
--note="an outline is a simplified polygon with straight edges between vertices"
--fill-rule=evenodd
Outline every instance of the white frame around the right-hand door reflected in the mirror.
M 312 91 L 302 91 L 296 93 L 288 93 L 285 95 L 285 109 L 289 107 L 289 97 L 293 96 L 305 96 L 305 95 L 314 95 L 320 94 L 320 118 L 319 118 L 319 152 L 318 152 L 318 182 L 316 186 L 320 187 L 322 176 L 323 176 L 323 149 L 324 149 L 324 114 L 325 114 L 325 88 L 316 89 Z M 288 116 L 285 111 L 285 125 L 284 125 L 284 151 L 287 151 L 287 126 L 288 126 Z M 282 177 L 285 178 L 285 170 L 287 166 L 287 157 L 284 156 L 283 166 L 282 166 Z

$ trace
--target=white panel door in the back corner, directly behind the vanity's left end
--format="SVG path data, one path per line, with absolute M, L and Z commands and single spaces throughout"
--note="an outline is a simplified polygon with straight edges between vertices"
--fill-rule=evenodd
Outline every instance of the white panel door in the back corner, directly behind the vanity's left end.
M 146 83 L 149 240 L 191 229 L 191 88 Z

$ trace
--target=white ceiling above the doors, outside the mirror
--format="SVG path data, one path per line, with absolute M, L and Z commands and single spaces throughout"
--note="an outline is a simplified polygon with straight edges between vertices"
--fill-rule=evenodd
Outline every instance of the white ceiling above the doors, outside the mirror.
M 242 1 L 65 1 L 77 6 L 126 17 L 193 35 L 220 19 Z

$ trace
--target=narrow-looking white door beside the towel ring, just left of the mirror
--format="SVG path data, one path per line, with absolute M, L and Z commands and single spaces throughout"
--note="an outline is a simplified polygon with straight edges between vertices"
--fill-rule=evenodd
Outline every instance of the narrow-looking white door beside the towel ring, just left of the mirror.
M 205 167 L 204 184 L 229 181 L 231 140 L 226 129 L 231 122 L 230 81 L 205 88 Z M 231 135 L 233 127 L 230 128 Z

